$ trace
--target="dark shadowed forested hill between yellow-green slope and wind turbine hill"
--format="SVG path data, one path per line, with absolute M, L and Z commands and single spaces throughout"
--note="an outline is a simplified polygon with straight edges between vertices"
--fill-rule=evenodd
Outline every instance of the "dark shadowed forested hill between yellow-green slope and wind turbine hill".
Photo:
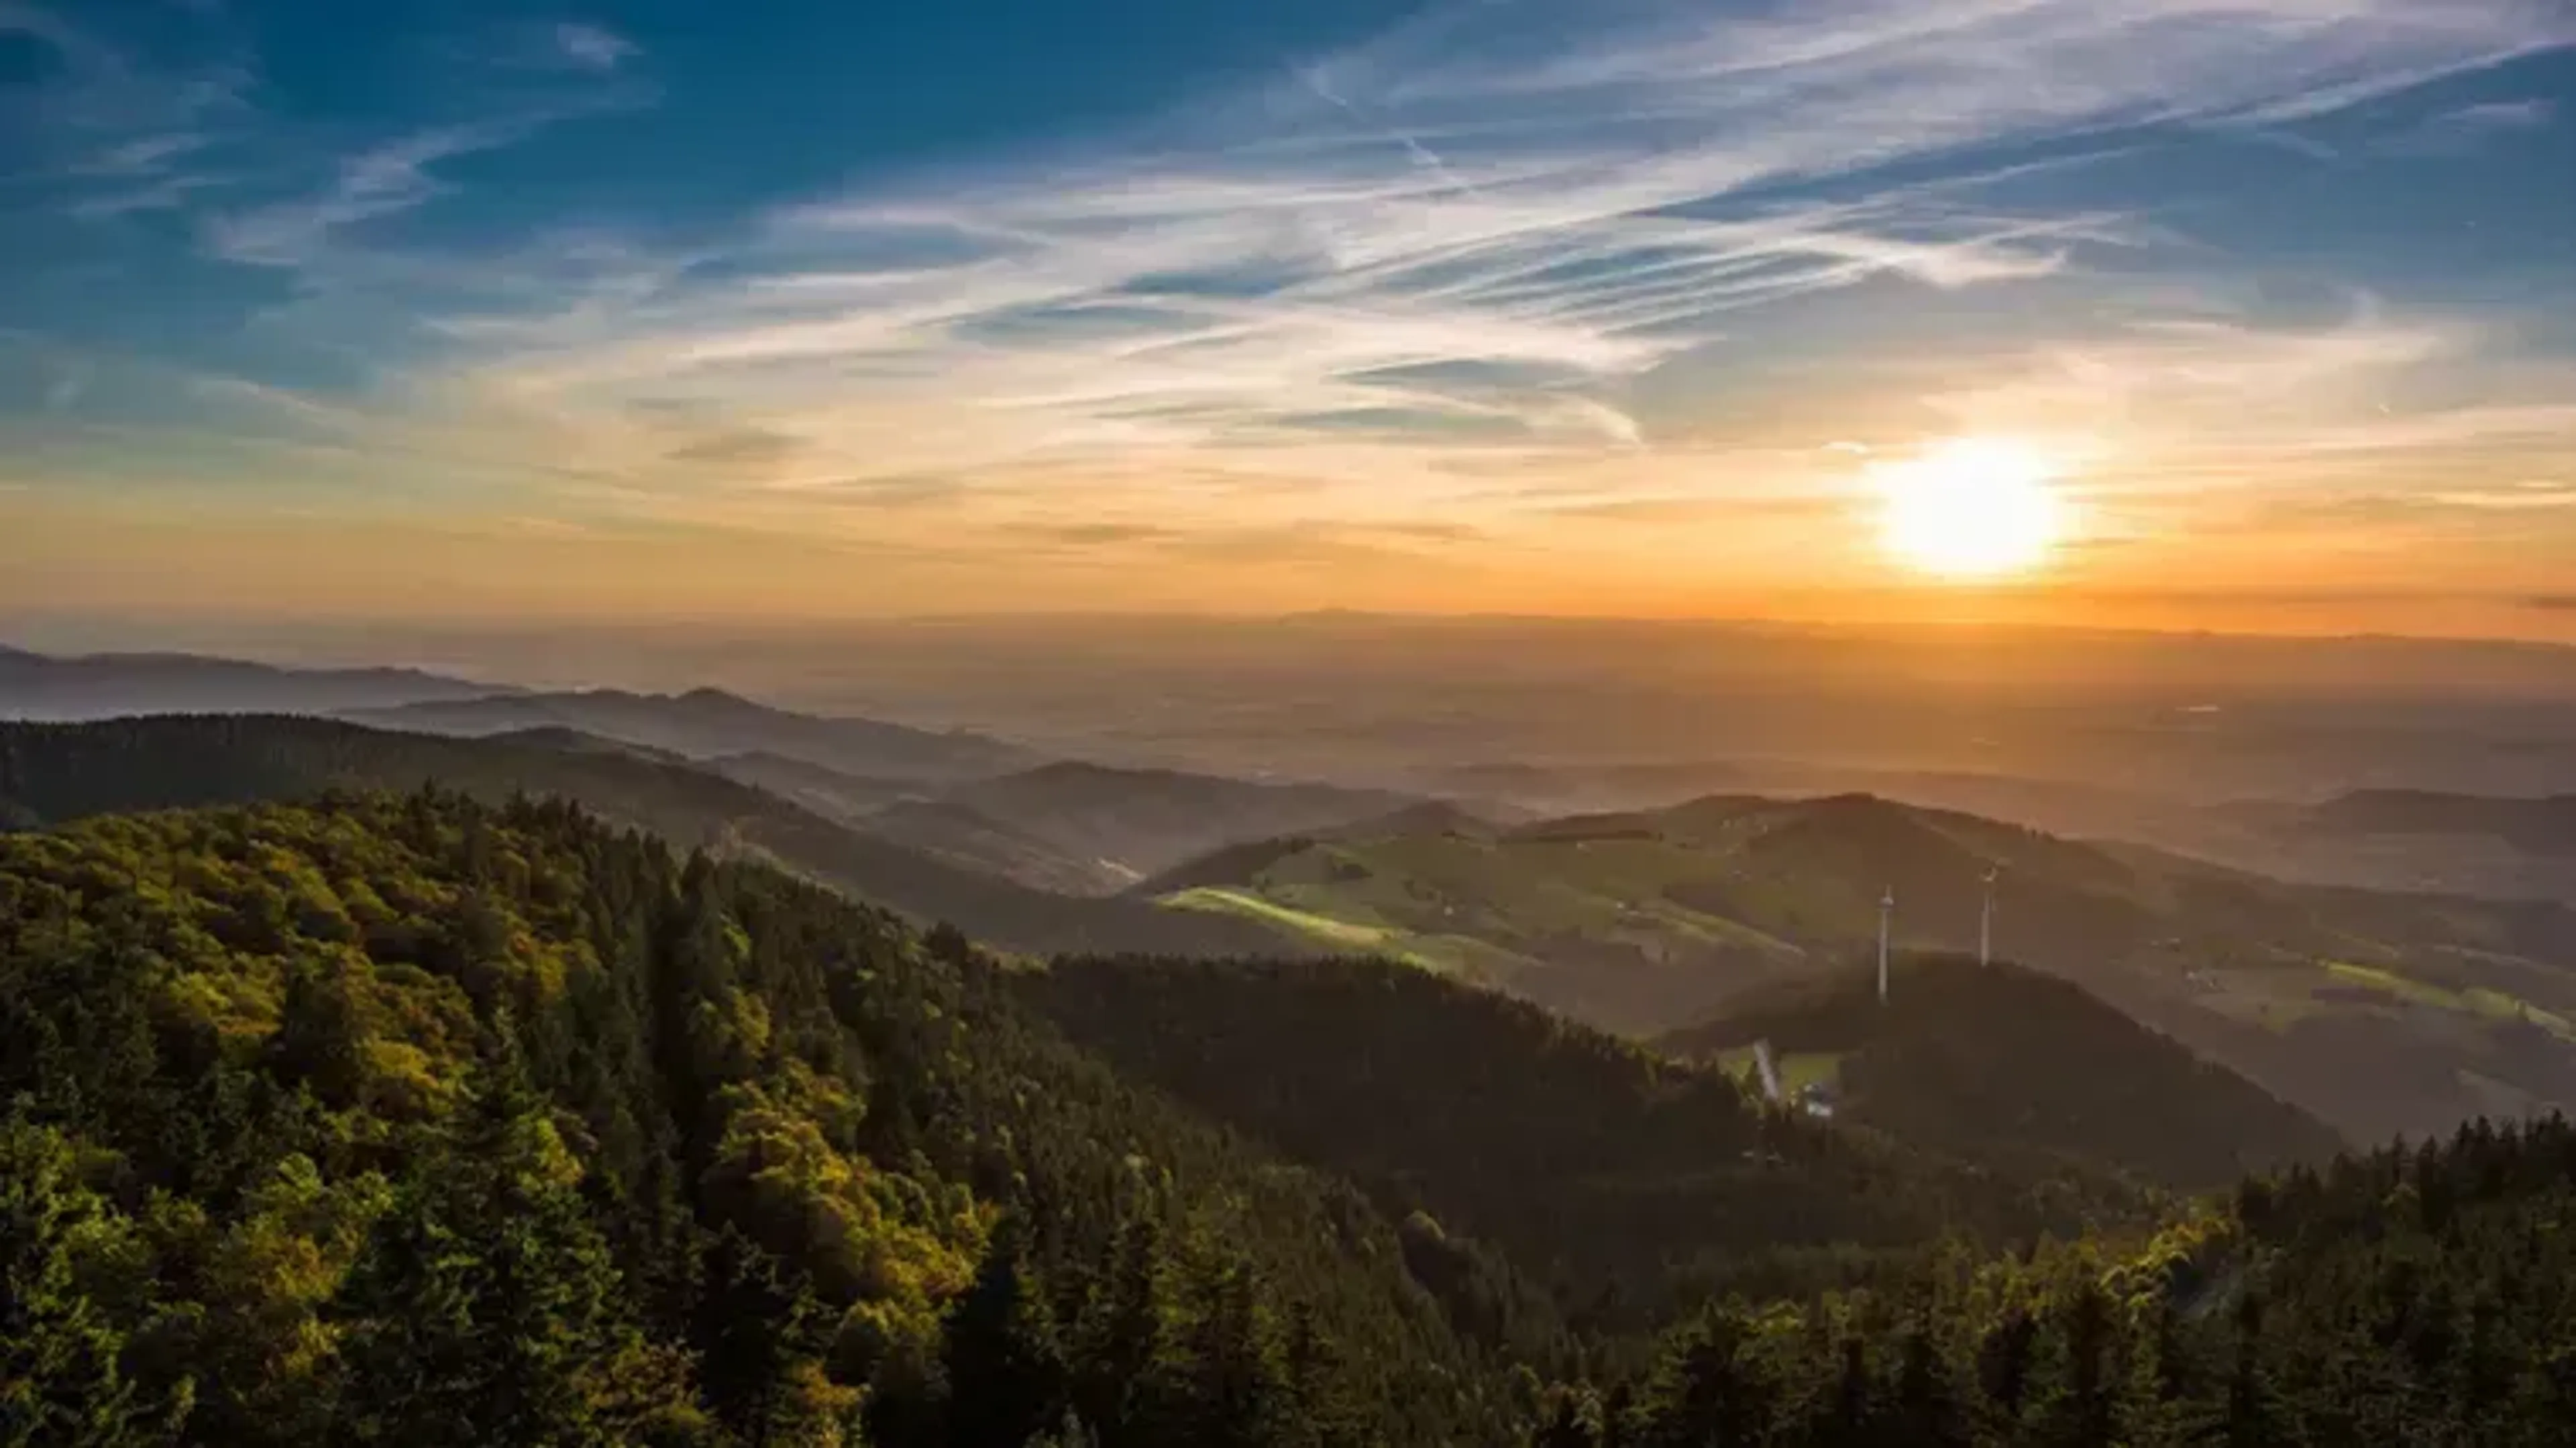
M 2102 1172 L 2007 1175 L 1765 1110 L 1731 1077 L 1409 966 L 1066 958 L 1012 987 L 1133 1080 L 1422 1214 L 1417 1255 L 1499 1250 L 1592 1327 L 1847 1281 L 1945 1234 L 2146 1216 Z

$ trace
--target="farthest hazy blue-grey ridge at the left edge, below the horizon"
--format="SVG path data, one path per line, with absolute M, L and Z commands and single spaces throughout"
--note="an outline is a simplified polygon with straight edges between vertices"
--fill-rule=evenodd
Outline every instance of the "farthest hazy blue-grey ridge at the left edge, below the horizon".
M 283 667 L 201 654 L 39 654 L 0 647 L 0 719 L 335 714 L 505 693 L 412 667 Z

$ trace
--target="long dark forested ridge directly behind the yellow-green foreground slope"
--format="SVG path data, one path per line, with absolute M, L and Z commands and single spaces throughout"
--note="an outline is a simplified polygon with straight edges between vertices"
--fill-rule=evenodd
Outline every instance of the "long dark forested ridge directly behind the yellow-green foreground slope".
M 281 716 L 0 724 L 0 830 L 124 809 L 422 783 L 492 804 L 513 794 L 572 799 L 683 848 L 778 861 L 922 922 L 971 922 L 979 940 L 1010 951 L 1280 948 L 1257 922 L 1028 889 L 835 824 L 747 783 L 613 747 L 448 739 Z

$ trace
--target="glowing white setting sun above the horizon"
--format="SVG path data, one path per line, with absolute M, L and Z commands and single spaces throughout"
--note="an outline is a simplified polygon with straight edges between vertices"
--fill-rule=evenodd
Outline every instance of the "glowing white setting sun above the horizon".
M 1935 577 L 2030 572 L 2066 531 L 2058 466 L 2012 438 L 1950 438 L 1873 477 L 1880 544 Z

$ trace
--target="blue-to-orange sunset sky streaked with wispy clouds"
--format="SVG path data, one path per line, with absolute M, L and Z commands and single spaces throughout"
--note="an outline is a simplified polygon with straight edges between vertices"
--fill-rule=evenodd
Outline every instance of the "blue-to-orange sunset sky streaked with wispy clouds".
M 2576 642 L 2576 3 L 0 0 L 0 618 L 1301 608 Z

